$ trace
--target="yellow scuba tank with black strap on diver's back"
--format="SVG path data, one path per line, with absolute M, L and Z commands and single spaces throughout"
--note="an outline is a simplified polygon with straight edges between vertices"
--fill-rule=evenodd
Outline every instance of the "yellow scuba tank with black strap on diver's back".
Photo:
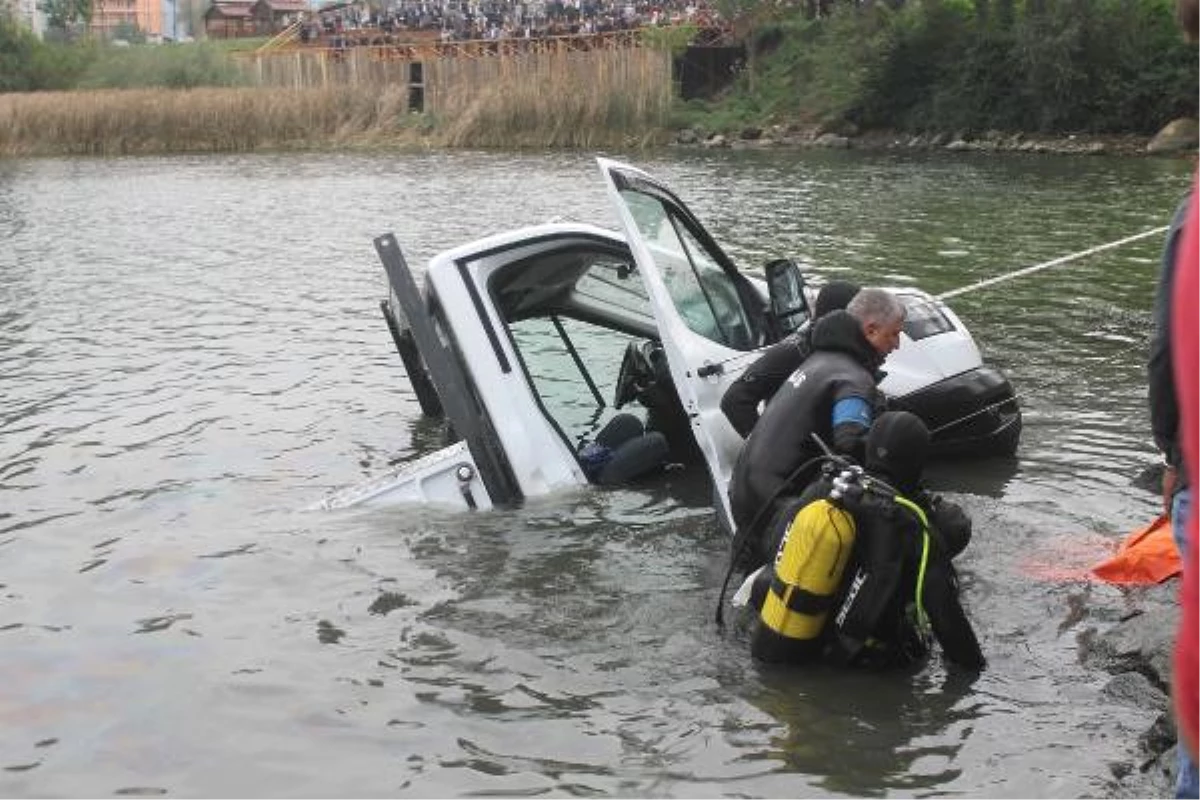
M 751 652 L 763 661 L 818 655 L 826 619 L 854 549 L 854 518 L 822 498 L 800 509 L 775 554 Z

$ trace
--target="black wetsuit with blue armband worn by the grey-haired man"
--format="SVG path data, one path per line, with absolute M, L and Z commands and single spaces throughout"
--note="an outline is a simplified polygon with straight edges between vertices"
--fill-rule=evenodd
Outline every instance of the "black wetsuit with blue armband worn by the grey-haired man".
M 739 539 L 761 540 L 778 510 L 816 476 L 818 463 L 804 467 L 821 455 L 812 433 L 835 452 L 862 459 L 866 431 L 883 404 L 876 389 L 881 361 L 845 311 L 817 320 L 812 355 L 775 393 L 733 467 L 730 505 Z

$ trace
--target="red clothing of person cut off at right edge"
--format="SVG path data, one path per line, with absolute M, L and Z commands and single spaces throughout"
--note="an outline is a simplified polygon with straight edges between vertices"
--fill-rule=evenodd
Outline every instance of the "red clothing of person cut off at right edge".
M 1175 391 L 1183 427 L 1183 463 L 1200 477 L 1200 172 L 1176 254 L 1171 306 Z M 1188 519 L 1188 560 L 1183 567 L 1182 618 L 1175 648 L 1175 703 L 1181 733 L 1200 754 L 1200 507 L 1194 498 Z

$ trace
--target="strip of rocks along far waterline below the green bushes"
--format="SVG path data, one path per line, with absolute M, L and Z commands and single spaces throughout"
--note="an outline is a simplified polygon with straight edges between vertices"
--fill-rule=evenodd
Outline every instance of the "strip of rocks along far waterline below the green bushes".
M 1154 137 L 1085 136 L 1040 137 L 990 131 L 911 134 L 892 131 L 859 131 L 850 122 L 833 126 L 749 126 L 734 134 L 690 127 L 677 131 L 677 146 L 731 148 L 826 148 L 834 150 L 946 150 L 952 152 L 1031 152 L 1061 155 L 1186 155 L 1200 150 L 1200 121 L 1178 119 Z

